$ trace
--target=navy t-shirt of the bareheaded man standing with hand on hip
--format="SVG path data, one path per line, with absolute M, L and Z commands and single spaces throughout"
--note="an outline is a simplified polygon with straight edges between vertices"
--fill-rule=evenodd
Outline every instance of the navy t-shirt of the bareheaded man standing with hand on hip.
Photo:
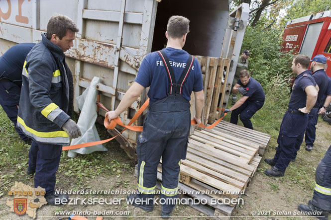
M 316 85 L 314 77 L 311 73 L 312 72 L 310 70 L 307 70 L 295 77 L 290 102 L 288 105 L 291 110 L 298 110 L 299 108 L 306 107 L 307 94 L 305 92 L 305 88 L 309 85 Z

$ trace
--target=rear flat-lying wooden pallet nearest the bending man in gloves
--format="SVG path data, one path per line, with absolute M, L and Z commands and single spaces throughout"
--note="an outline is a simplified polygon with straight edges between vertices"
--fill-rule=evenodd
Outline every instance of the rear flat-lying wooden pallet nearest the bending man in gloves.
M 268 145 L 271 136 L 262 132 L 244 128 L 239 125 L 234 125 L 229 122 L 221 121 L 214 129 L 218 135 L 227 135 L 230 139 L 241 139 L 246 144 L 258 145 L 258 154 L 263 155 L 266 146 Z

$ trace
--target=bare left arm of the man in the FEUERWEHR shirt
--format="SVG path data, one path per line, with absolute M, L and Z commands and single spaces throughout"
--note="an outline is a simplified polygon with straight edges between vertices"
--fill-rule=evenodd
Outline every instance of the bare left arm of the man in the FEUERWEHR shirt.
M 131 104 L 141 95 L 141 92 L 144 90 L 144 86 L 140 85 L 138 82 L 134 82 L 133 85 L 125 92 L 123 99 L 120 101 L 119 105 L 114 111 L 109 111 L 106 113 L 105 117 L 108 117 L 108 120 L 117 118 L 120 113 L 125 111 Z

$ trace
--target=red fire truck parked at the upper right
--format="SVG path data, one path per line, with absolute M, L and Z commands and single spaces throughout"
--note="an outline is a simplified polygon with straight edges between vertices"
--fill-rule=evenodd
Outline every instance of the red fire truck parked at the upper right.
M 314 57 L 327 57 L 327 74 L 331 77 L 331 10 L 289 20 L 283 34 L 283 51 Z M 331 123 L 331 105 L 323 119 Z

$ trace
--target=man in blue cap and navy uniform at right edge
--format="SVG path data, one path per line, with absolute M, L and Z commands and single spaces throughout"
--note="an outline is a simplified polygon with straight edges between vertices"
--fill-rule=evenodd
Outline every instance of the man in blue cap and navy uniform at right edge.
M 327 58 L 322 55 L 316 55 L 312 61 L 311 64 L 311 70 L 313 72 L 313 77 L 318 84 L 320 90 L 319 95 L 317 97 L 317 101 L 315 106 L 312 108 L 308 115 L 308 125 L 306 128 L 306 136 L 305 136 L 305 142 L 306 142 L 306 150 L 311 151 L 312 147 L 314 146 L 315 138 L 316 138 L 316 125 L 317 120 L 319 118 L 319 111 L 321 108 L 326 108 L 327 106 L 323 106 L 324 99 L 326 97 L 326 92 L 328 88 L 328 82 L 329 82 L 329 76 L 324 71 L 324 66 L 327 63 Z

